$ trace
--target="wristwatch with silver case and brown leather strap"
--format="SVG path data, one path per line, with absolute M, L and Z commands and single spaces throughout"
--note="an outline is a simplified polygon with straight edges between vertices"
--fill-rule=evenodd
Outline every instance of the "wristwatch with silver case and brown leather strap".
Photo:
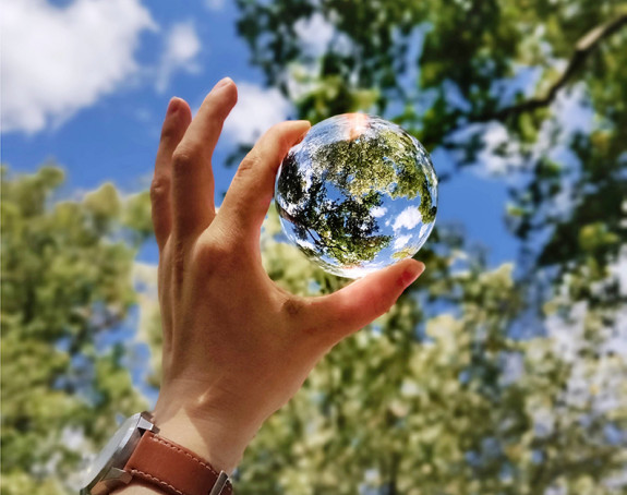
M 219 473 L 194 452 L 159 436 L 149 412 L 129 418 L 84 474 L 81 495 L 106 495 L 140 480 L 170 495 L 232 495 Z

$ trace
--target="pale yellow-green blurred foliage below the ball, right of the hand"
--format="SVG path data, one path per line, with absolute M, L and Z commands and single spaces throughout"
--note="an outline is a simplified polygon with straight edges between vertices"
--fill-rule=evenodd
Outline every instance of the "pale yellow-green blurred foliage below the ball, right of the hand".
M 303 279 L 337 288 L 277 234 L 272 217 L 270 276 L 301 293 Z M 513 266 L 451 273 L 459 255 L 421 252 L 415 293 L 338 345 L 260 432 L 240 493 L 613 493 L 627 462 L 627 364 L 606 346 L 612 311 L 557 298 L 544 324 L 562 334 L 515 338 L 527 302 Z M 429 300 L 454 313 L 429 314 Z M 555 316 L 569 310 L 581 321 Z

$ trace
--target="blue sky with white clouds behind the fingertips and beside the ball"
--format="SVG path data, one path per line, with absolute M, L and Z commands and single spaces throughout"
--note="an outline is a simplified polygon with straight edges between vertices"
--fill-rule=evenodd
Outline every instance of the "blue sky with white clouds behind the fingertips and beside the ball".
M 7 0 L 2 15 L 2 161 L 17 172 L 55 160 L 68 172 L 67 195 L 113 181 L 134 192 L 149 183 L 162 114 L 171 96 L 196 109 L 229 75 L 240 101 L 214 157 L 219 203 L 233 168 L 226 157 L 273 123 L 294 117 L 237 36 L 237 9 L 226 0 Z M 328 26 L 302 26 L 312 50 Z M 419 43 L 419 40 L 417 40 Z M 434 154 L 437 170 L 449 157 Z M 516 256 L 503 222 L 502 180 L 456 173 L 441 186 L 438 222 L 466 227 L 489 246 L 490 264 Z M 146 250 L 145 261 L 156 261 Z

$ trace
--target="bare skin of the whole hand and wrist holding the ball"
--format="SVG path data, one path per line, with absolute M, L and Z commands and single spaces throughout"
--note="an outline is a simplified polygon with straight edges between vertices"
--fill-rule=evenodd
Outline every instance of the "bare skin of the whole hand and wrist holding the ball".
M 236 101 L 230 79 L 212 89 L 194 119 L 185 101 L 170 101 L 150 190 L 164 329 L 156 424 L 227 473 L 315 364 L 386 313 L 424 270 L 405 259 L 316 298 L 272 281 L 261 261 L 261 226 L 278 167 L 310 123 L 267 131 L 216 210 L 212 154 Z M 117 493 L 160 492 L 132 483 Z

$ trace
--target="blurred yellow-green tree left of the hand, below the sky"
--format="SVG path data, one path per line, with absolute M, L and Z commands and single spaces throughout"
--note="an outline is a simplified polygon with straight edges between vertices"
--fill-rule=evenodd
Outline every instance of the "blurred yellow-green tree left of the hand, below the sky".
M 145 399 L 121 338 L 147 195 L 53 201 L 62 171 L 2 171 L 2 493 L 70 493 L 81 451 Z M 149 230 L 148 230 L 149 231 Z

